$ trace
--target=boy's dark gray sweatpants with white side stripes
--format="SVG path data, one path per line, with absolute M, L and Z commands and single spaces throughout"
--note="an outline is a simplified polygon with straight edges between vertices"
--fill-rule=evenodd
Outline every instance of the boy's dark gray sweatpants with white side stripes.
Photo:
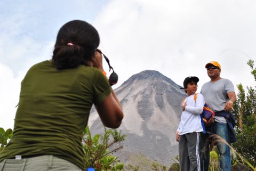
M 180 135 L 179 160 L 181 171 L 203 171 L 205 136 L 201 133 L 187 133 Z

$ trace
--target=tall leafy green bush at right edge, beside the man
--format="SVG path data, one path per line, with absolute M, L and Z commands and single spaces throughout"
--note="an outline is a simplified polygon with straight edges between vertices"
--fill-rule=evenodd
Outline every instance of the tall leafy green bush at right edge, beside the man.
M 252 69 L 251 74 L 256 82 L 256 68 L 254 61 L 247 62 Z M 233 113 L 236 118 L 237 142 L 234 143 L 235 150 L 242 154 L 253 166 L 256 165 L 256 89 L 237 85 L 237 101 L 234 104 Z

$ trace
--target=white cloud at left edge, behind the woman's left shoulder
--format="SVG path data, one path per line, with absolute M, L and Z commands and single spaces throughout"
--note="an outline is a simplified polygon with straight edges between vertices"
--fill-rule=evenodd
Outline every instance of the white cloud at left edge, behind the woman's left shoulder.
M 3 54 L 6 55 L 3 56 L 10 60 L 9 66 L 0 62 L 0 127 L 4 129 L 13 128 L 17 110 L 14 107 L 19 102 L 21 80 L 27 70 L 35 63 L 51 59 L 51 50 L 54 43 L 49 42 L 41 45 L 34 39 L 23 38 L 23 44 L 18 44 L 12 51 L 14 44 L 14 42 L 11 42 L 10 46 L 0 48 L 0 55 L 4 51 Z

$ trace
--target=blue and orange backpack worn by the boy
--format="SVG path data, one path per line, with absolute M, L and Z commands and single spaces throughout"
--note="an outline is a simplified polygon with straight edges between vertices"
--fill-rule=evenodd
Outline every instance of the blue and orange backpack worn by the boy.
M 197 97 L 197 94 L 194 95 L 195 102 L 196 102 L 196 97 Z M 213 123 L 214 116 L 215 116 L 214 111 L 212 111 L 210 107 L 206 103 L 204 103 L 203 112 L 200 114 L 204 133 L 206 133 L 205 127 L 209 127 Z

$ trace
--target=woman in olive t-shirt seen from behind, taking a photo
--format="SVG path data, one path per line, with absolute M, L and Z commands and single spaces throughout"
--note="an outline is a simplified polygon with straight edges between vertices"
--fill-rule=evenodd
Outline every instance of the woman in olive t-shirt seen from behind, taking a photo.
M 104 75 L 99 42 L 85 21 L 60 28 L 52 60 L 35 64 L 22 80 L 0 170 L 84 170 L 82 132 L 93 104 L 105 126 L 121 125 L 122 107 Z

